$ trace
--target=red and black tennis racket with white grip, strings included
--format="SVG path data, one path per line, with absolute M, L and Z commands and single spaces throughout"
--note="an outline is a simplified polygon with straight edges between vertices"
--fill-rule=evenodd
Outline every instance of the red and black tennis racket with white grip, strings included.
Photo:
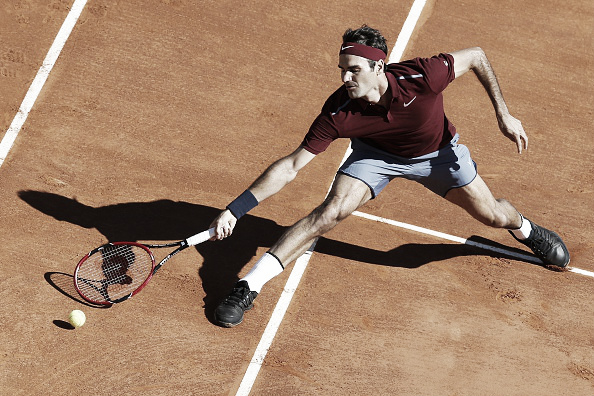
M 74 287 L 93 304 L 111 305 L 126 301 L 151 280 L 171 257 L 214 236 L 214 228 L 179 242 L 161 245 L 112 242 L 91 250 L 74 270 Z M 176 247 L 159 264 L 151 249 Z

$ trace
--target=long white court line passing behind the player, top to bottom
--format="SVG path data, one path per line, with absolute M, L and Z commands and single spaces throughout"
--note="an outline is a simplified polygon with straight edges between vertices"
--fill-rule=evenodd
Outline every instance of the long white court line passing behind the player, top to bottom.
M 404 49 L 406 48 L 406 45 L 408 44 L 408 40 L 410 39 L 410 37 L 412 35 L 412 31 L 414 30 L 414 27 L 415 27 L 417 21 L 419 20 L 419 16 L 421 15 L 421 12 L 423 11 L 423 7 L 425 6 L 425 3 L 426 3 L 426 0 L 415 0 L 415 2 L 413 3 L 408 16 L 406 17 L 406 21 L 404 22 L 404 25 L 403 25 L 403 30 L 406 29 L 407 32 L 405 34 L 403 34 L 401 32 L 398 35 L 398 39 L 396 40 L 396 44 L 394 45 L 394 49 L 392 50 L 392 52 L 396 51 L 399 54 L 390 56 L 391 62 L 397 62 L 399 60 L 399 57 L 404 52 Z M 396 60 L 394 60 L 394 59 L 396 59 Z M 349 150 L 350 150 L 350 146 L 349 146 Z M 349 154 L 349 150 L 347 150 L 347 153 L 345 154 L 342 162 L 344 162 L 344 160 L 347 158 L 347 156 Z M 317 240 L 316 240 L 316 242 L 317 242 Z M 272 312 L 270 321 L 268 322 L 268 325 L 266 326 L 266 329 L 264 330 L 264 333 L 262 334 L 262 338 L 260 339 L 260 342 L 258 343 L 258 346 L 256 347 L 256 351 L 254 352 L 254 356 L 252 357 L 252 360 L 250 361 L 250 364 L 248 365 L 248 368 L 247 368 L 245 375 L 241 381 L 241 384 L 239 385 L 239 389 L 237 390 L 237 393 L 235 394 L 236 396 L 247 396 L 250 394 L 252 386 L 254 385 L 254 382 L 256 381 L 256 377 L 258 376 L 258 373 L 260 372 L 260 368 L 262 367 L 262 363 L 264 362 L 264 358 L 266 357 L 266 354 L 268 353 L 268 350 L 270 349 L 270 346 L 272 345 L 272 341 L 274 340 L 274 337 L 278 331 L 278 328 L 280 327 L 283 317 L 285 316 L 285 313 L 287 312 L 289 304 L 291 303 L 291 300 L 293 299 L 293 295 L 295 294 L 295 291 L 297 290 L 297 286 L 299 285 L 299 282 L 301 281 L 301 277 L 303 276 L 303 273 L 305 272 L 305 268 L 307 267 L 307 264 L 309 263 L 309 259 L 311 258 L 311 255 L 313 253 L 316 242 L 314 242 L 312 244 L 312 246 L 309 248 L 309 250 L 307 252 L 305 252 L 301 257 L 299 257 L 297 259 L 297 261 L 295 262 L 295 266 L 293 267 L 293 270 L 291 271 L 291 274 L 289 275 L 289 279 L 287 280 L 287 283 L 285 284 L 285 288 L 281 294 L 281 297 L 279 298 L 278 302 L 276 303 L 276 307 L 275 307 L 274 311 Z

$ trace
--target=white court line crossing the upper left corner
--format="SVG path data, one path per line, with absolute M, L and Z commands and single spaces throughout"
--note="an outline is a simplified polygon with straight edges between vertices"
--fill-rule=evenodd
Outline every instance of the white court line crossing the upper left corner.
M 66 41 L 68 40 L 74 25 L 76 25 L 76 21 L 78 21 L 78 18 L 80 17 L 80 14 L 82 13 L 86 3 L 87 0 L 75 0 L 70 12 L 68 13 L 68 16 L 66 16 L 66 19 L 64 20 L 58 35 L 54 39 L 54 43 L 50 47 L 43 64 L 39 68 L 35 79 L 31 83 L 31 86 L 25 95 L 25 99 L 23 99 L 23 102 L 21 103 L 19 111 L 12 120 L 10 127 L 8 127 L 2 142 L 0 142 L 0 166 L 2 166 L 6 160 L 8 152 L 12 148 L 12 145 L 21 131 L 21 128 L 25 124 L 25 121 L 29 116 L 29 112 L 33 108 L 33 105 L 35 104 L 35 101 L 37 100 L 37 97 L 39 96 L 39 93 L 41 92 L 41 89 L 43 88 L 49 73 L 52 71 L 56 60 L 58 59 L 60 52 L 62 52 L 62 48 L 64 48 L 64 44 L 66 44 Z

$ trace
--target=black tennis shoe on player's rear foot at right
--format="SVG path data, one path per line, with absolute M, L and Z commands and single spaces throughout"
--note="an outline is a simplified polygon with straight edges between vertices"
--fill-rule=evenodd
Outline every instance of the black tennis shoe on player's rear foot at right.
M 527 239 L 521 240 L 509 231 L 520 243 L 528 246 L 545 264 L 565 268 L 569 264 L 569 250 L 555 232 L 547 230 L 533 222 L 532 231 Z

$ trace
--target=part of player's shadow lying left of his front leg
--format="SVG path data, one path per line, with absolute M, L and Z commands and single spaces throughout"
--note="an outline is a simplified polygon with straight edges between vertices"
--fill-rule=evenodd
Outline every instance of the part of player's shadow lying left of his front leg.
M 31 207 L 59 221 L 84 228 L 95 228 L 107 241 L 177 241 L 207 229 L 220 213 L 219 208 L 172 201 L 128 202 L 92 207 L 76 199 L 42 191 L 20 191 L 19 197 Z M 284 228 L 272 220 L 247 215 L 233 236 L 223 241 L 196 246 L 204 263 L 199 276 L 206 294 L 204 309 L 212 320 L 214 306 L 238 280 L 238 273 L 261 246 L 271 246 Z M 102 243 L 103 243 L 102 242 Z M 81 254 L 95 246 L 81 246 Z M 73 268 L 76 263 L 73 263 Z M 66 279 L 69 278 L 69 279 Z M 71 287 L 72 277 L 46 273 L 46 281 L 62 294 L 78 295 Z

